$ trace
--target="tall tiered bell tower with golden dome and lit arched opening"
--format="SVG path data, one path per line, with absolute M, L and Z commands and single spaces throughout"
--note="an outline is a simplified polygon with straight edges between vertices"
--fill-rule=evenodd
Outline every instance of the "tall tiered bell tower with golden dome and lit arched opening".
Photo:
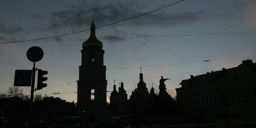
M 106 66 L 103 64 L 102 42 L 95 36 L 95 24 L 91 24 L 88 40 L 82 44 L 82 65 L 77 81 L 78 116 L 86 120 L 102 120 L 106 117 Z

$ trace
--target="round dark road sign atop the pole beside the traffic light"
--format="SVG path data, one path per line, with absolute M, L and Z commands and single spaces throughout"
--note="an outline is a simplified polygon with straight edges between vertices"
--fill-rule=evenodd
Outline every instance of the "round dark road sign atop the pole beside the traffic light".
M 44 51 L 38 46 L 33 46 L 27 51 L 27 58 L 32 62 L 40 61 L 44 56 Z

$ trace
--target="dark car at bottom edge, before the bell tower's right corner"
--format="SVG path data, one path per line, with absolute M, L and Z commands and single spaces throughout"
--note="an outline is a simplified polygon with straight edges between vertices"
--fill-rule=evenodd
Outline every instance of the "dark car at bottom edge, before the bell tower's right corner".
M 124 121 L 122 118 L 106 118 L 102 122 L 96 123 L 94 128 L 124 128 Z

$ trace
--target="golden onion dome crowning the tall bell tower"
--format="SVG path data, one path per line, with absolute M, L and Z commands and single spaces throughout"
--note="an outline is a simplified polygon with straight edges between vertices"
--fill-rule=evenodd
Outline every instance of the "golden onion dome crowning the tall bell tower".
M 102 49 L 102 42 L 100 40 L 98 40 L 95 36 L 95 24 L 94 22 L 92 21 L 92 24 L 91 24 L 91 33 L 90 33 L 90 37 L 84 41 L 84 43 L 82 44 L 82 48 L 85 49 L 85 48 L 95 48 L 95 49 Z

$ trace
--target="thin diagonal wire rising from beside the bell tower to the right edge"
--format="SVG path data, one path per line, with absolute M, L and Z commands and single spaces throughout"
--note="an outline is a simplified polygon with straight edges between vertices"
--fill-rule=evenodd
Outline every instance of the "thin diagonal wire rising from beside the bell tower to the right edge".
M 244 22 L 247 22 L 247 21 L 249 21 L 249 20 L 253 20 L 253 19 L 255 19 L 255 18 L 256 18 L 256 17 L 251 18 L 251 19 L 248 19 L 248 20 L 245 20 L 245 21 L 240 22 L 240 23 L 238 23 L 238 24 L 242 24 L 242 23 L 244 23 Z M 225 30 L 225 29 L 231 28 L 231 27 L 236 26 L 236 25 L 238 25 L 238 24 L 234 24 L 234 25 L 232 25 L 232 26 L 229 26 L 229 27 L 227 27 L 227 28 L 224 28 L 224 29 L 218 30 L 218 31 L 216 31 L 216 32 L 220 32 L 220 31 L 222 31 L 222 30 Z M 211 34 L 214 34 L 214 33 L 216 33 L 216 32 L 212 32 Z M 209 36 L 209 35 L 211 35 L 211 34 L 207 34 L 207 35 L 205 35 L 205 36 Z M 194 39 L 194 40 L 198 40 L 198 39 L 203 38 L 203 37 L 205 37 L 205 36 L 201 36 L 201 37 L 196 38 L 196 39 Z M 190 40 L 190 41 L 188 41 L 188 42 L 185 42 L 185 43 L 182 43 L 182 44 L 179 44 L 179 45 L 173 46 L 173 47 L 168 48 L 168 49 L 166 49 L 166 50 L 170 50 L 170 49 L 172 49 L 172 48 L 176 48 L 176 47 L 181 46 L 181 45 L 183 45 L 183 44 L 187 44 L 187 43 L 189 43 L 189 42 L 192 42 L 192 41 L 194 41 L 194 40 Z M 149 56 L 153 56 L 153 55 L 155 55 L 155 54 L 158 54 L 158 53 L 164 52 L 164 51 L 166 51 L 166 50 L 162 50 L 162 51 L 160 51 L 160 52 L 156 52 L 156 53 L 151 54 L 151 55 L 149 55 Z M 137 60 L 134 60 L 134 61 L 132 61 L 132 62 L 135 62 L 135 61 L 138 61 L 138 60 L 141 60 L 141 59 L 147 58 L 147 57 L 149 57 L 149 56 L 142 57 L 142 58 L 137 59 Z M 130 63 L 132 63 L 132 62 L 128 62 L 128 63 L 126 63 L 126 64 L 130 64 Z M 118 67 L 124 66 L 124 65 L 126 65 L 126 64 L 122 64 L 122 65 L 117 66 L 117 67 L 115 67 L 115 68 L 118 68 Z M 112 69 L 115 69 L 115 68 L 112 68 Z M 110 69 L 110 70 L 112 70 L 112 69 Z

